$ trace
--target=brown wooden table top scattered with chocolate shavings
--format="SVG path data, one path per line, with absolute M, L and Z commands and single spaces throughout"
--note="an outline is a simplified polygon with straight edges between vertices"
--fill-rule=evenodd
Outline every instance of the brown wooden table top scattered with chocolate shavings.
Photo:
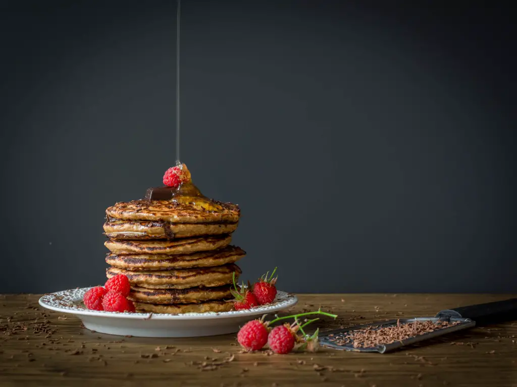
M 300 295 L 292 312 L 321 305 L 339 318 L 314 328 L 330 329 L 434 315 L 444 308 L 510 297 L 515 296 Z M 236 335 L 163 339 L 90 332 L 71 315 L 42 310 L 38 298 L 0 295 L 2 386 L 517 386 L 516 322 L 457 332 L 387 354 L 323 349 L 270 355 L 241 353 Z

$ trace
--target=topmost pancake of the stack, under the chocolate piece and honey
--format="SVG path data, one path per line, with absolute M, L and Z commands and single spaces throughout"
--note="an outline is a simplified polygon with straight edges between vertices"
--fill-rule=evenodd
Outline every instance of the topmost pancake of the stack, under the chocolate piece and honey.
M 124 220 L 159 220 L 171 223 L 219 223 L 239 220 L 239 206 L 212 201 L 220 209 L 208 211 L 193 203 L 176 203 L 171 200 L 133 200 L 119 202 L 106 209 L 108 217 Z

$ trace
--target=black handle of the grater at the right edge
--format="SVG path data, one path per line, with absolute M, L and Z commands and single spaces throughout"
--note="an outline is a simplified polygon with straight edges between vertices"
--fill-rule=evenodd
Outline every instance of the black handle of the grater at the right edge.
M 517 319 L 517 298 L 485 304 L 469 305 L 438 312 L 436 317 L 463 317 L 476 321 L 476 325 Z

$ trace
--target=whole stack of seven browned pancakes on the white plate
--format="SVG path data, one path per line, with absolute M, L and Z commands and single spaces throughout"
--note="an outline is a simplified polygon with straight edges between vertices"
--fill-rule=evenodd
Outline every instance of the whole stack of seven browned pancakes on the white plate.
M 108 278 L 124 274 L 139 312 L 223 312 L 233 307 L 235 262 L 245 256 L 231 246 L 240 209 L 172 200 L 120 202 L 106 210 L 104 244 Z

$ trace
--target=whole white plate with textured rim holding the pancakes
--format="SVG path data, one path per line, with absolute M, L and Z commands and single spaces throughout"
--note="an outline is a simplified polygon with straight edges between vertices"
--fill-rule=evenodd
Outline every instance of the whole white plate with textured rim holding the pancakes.
M 92 311 L 81 306 L 89 287 L 44 295 L 39 304 L 60 313 L 79 317 L 86 328 L 120 336 L 195 337 L 234 333 L 247 321 L 266 313 L 290 308 L 298 302 L 295 295 L 278 291 L 275 302 L 244 311 L 153 314 Z

